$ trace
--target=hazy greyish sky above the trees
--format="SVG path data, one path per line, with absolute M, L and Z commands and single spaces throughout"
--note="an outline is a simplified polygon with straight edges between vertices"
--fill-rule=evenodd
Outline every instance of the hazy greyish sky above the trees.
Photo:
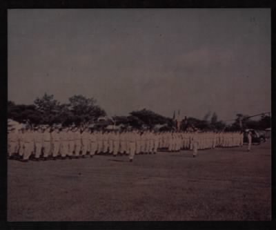
M 270 111 L 269 9 L 8 11 L 8 99 L 95 97 L 219 119 Z

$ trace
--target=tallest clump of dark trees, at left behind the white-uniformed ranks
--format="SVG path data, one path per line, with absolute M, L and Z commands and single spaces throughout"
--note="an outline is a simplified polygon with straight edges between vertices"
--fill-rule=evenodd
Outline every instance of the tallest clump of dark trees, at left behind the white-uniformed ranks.
M 8 102 L 8 118 L 17 122 L 32 124 L 83 124 L 105 116 L 104 111 L 96 104 L 95 99 L 75 95 L 68 103 L 61 104 L 53 95 L 44 94 L 37 97 L 33 104 L 21 105 Z

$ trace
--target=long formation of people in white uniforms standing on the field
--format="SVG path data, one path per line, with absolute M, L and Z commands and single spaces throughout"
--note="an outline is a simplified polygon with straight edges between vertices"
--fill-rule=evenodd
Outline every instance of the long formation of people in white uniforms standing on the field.
M 77 126 L 35 126 L 8 133 L 8 155 L 19 155 L 23 162 L 85 157 L 89 154 L 126 154 L 132 162 L 135 154 L 176 152 L 243 145 L 243 133 L 214 132 L 153 132 L 153 131 L 94 131 Z

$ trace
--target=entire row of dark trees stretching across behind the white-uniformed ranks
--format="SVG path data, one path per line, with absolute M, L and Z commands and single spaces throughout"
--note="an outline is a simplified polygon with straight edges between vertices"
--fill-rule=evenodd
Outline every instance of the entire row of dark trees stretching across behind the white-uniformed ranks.
M 83 95 L 74 95 L 68 99 L 68 103 L 58 102 L 54 95 L 44 94 L 37 97 L 33 104 L 14 104 L 8 102 L 8 118 L 20 123 L 27 121 L 32 124 L 95 124 L 99 117 L 106 116 L 94 98 L 86 98 Z M 225 122 L 218 119 L 217 114 L 211 115 L 208 112 L 203 119 L 195 117 L 185 117 L 181 121 L 181 130 L 188 128 L 199 128 L 201 130 L 228 130 L 238 131 L 244 128 L 264 129 L 270 127 L 270 116 L 263 115 L 259 120 L 251 120 L 248 116 L 237 114 L 237 119 L 226 126 Z M 132 111 L 127 116 L 114 116 L 103 122 L 103 125 L 116 124 L 123 126 L 133 126 L 135 128 L 154 128 L 161 125 L 161 130 L 171 130 L 175 128 L 176 121 L 170 117 L 164 117 L 153 111 L 142 109 Z M 241 127 L 242 124 L 242 127 Z

